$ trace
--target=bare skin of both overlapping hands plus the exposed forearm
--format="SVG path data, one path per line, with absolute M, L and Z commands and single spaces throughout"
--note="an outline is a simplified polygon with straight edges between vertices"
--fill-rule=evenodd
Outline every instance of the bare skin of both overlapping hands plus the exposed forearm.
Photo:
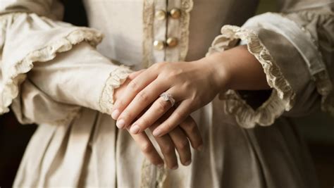
M 247 46 L 237 46 L 197 61 L 156 63 L 147 70 L 132 73 L 130 79 L 116 89 L 112 117 L 117 120 L 118 128 L 127 129 L 135 142 L 144 146 L 141 149 L 151 163 L 162 165 L 162 159 L 144 132 L 151 130 L 166 165 L 176 169 L 175 149 L 181 163 L 189 165 L 191 153 L 187 140 L 194 149 L 203 147 L 190 113 L 228 89 L 270 89 L 264 69 Z M 169 101 L 159 97 L 163 92 L 173 95 L 176 101 L 173 108 Z

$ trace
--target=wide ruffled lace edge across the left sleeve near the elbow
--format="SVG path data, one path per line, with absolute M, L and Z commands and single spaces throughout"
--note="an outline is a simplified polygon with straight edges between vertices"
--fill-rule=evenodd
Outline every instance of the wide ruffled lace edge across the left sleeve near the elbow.
M 23 60 L 18 61 L 13 67 L 6 70 L 8 71 L 8 77 L 4 77 L 4 89 L 0 93 L 0 114 L 9 111 L 8 106 L 10 106 L 13 99 L 18 96 L 19 85 L 25 80 L 25 73 L 29 72 L 34 67 L 34 62 L 51 61 L 56 57 L 57 53 L 69 51 L 72 49 L 73 45 L 83 41 L 89 42 L 92 46 L 97 46 L 101 40 L 102 35 L 100 32 L 78 27 L 78 30 L 70 32 L 67 37 L 27 54 Z

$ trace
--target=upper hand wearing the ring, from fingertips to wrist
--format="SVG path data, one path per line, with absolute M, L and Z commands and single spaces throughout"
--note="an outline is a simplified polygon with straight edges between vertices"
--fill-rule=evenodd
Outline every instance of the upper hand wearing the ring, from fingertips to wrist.
M 151 107 L 130 127 L 132 134 L 143 132 L 171 107 L 170 101 L 159 97 L 163 92 L 175 99 L 175 111 L 154 130 L 162 136 L 187 118 L 190 113 L 205 106 L 221 92 L 228 82 L 228 74 L 217 70 L 215 62 L 199 61 L 156 63 L 128 84 L 125 95 L 113 106 L 112 117 L 119 128 L 130 126 L 135 118 Z

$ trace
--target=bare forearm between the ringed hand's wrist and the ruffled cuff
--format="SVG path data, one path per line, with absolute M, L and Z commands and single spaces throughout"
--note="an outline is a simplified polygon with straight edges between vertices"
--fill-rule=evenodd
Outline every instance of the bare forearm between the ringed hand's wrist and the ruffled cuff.
M 203 58 L 214 68 L 216 82 L 222 89 L 270 89 L 261 63 L 249 53 L 247 46 L 236 46 L 227 51 Z

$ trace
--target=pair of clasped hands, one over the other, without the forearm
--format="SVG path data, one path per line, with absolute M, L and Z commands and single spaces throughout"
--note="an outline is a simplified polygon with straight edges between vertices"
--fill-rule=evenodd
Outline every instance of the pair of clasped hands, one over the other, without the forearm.
M 147 70 L 132 73 L 122 89 L 116 89 L 113 119 L 127 129 L 144 155 L 154 165 L 163 165 L 144 130 L 149 129 L 161 148 L 168 168 L 178 168 L 175 149 L 183 165 L 191 163 L 190 144 L 203 148 L 199 128 L 190 113 L 205 106 L 221 91 L 221 74 L 206 61 L 156 63 Z M 218 79 L 218 77 L 220 77 Z M 161 99 L 167 92 L 175 99 Z

